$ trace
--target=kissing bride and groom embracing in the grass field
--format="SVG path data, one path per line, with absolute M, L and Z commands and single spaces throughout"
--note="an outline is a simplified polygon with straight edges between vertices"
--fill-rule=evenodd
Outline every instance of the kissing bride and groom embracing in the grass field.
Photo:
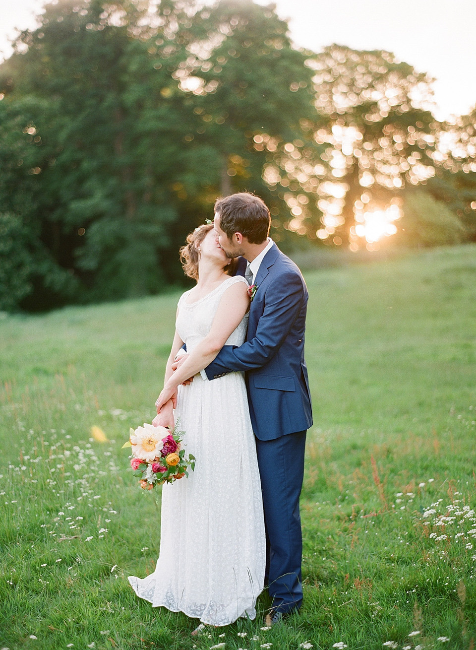
M 214 209 L 213 224 L 195 228 L 181 248 L 196 284 L 177 305 L 153 420 L 173 428 L 180 419 L 195 471 L 162 487 L 157 567 L 129 577 L 154 607 L 199 619 L 192 634 L 254 619 L 265 587 L 268 626 L 303 601 L 307 287 L 269 239 L 264 201 L 240 192 Z

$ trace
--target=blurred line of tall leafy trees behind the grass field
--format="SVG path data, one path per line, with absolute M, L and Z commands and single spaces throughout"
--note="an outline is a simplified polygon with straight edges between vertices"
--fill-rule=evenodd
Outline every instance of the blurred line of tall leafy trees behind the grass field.
M 476 240 L 476 111 L 386 51 L 296 49 L 251 0 L 59 0 L 0 65 L 0 309 L 163 291 L 219 194 L 286 250 Z M 379 212 L 380 211 L 380 212 Z M 393 221 L 392 221 L 393 219 Z

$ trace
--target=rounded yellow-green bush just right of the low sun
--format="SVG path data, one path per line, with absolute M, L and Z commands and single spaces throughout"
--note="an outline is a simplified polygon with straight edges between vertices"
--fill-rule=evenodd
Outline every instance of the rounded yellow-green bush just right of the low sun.
M 456 214 L 427 192 L 407 192 L 403 217 L 395 235 L 408 246 L 443 246 L 458 244 L 465 239 L 465 229 Z

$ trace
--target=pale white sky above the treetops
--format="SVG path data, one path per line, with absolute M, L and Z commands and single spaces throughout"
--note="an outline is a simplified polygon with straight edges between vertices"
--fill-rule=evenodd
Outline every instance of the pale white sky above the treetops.
M 268 0 L 257 0 L 268 5 Z M 211 3 L 210 3 L 211 4 Z M 475 0 L 275 0 L 294 44 L 320 51 L 338 43 L 386 49 L 436 79 L 438 119 L 476 104 Z M 0 53 L 10 53 L 15 28 L 34 26 L 42 0 L 0 0 Z

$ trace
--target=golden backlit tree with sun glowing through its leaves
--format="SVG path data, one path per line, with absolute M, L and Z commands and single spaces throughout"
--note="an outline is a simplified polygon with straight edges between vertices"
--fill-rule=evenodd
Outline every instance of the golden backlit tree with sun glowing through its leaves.
M 315 132 L 326 146 L 318 167 L 318 236 L 348 240 L 366 214 L 390 209 L 405 185 L 425 184 L 434 175 L 439 123 L 431 113 L 431 79 L 386 51 L 326 47 L 312 57 L 316 72 Z M 393 200 L 393 201 L 392 201 Z M 393 205 L 393 207 L 392 207 Z

